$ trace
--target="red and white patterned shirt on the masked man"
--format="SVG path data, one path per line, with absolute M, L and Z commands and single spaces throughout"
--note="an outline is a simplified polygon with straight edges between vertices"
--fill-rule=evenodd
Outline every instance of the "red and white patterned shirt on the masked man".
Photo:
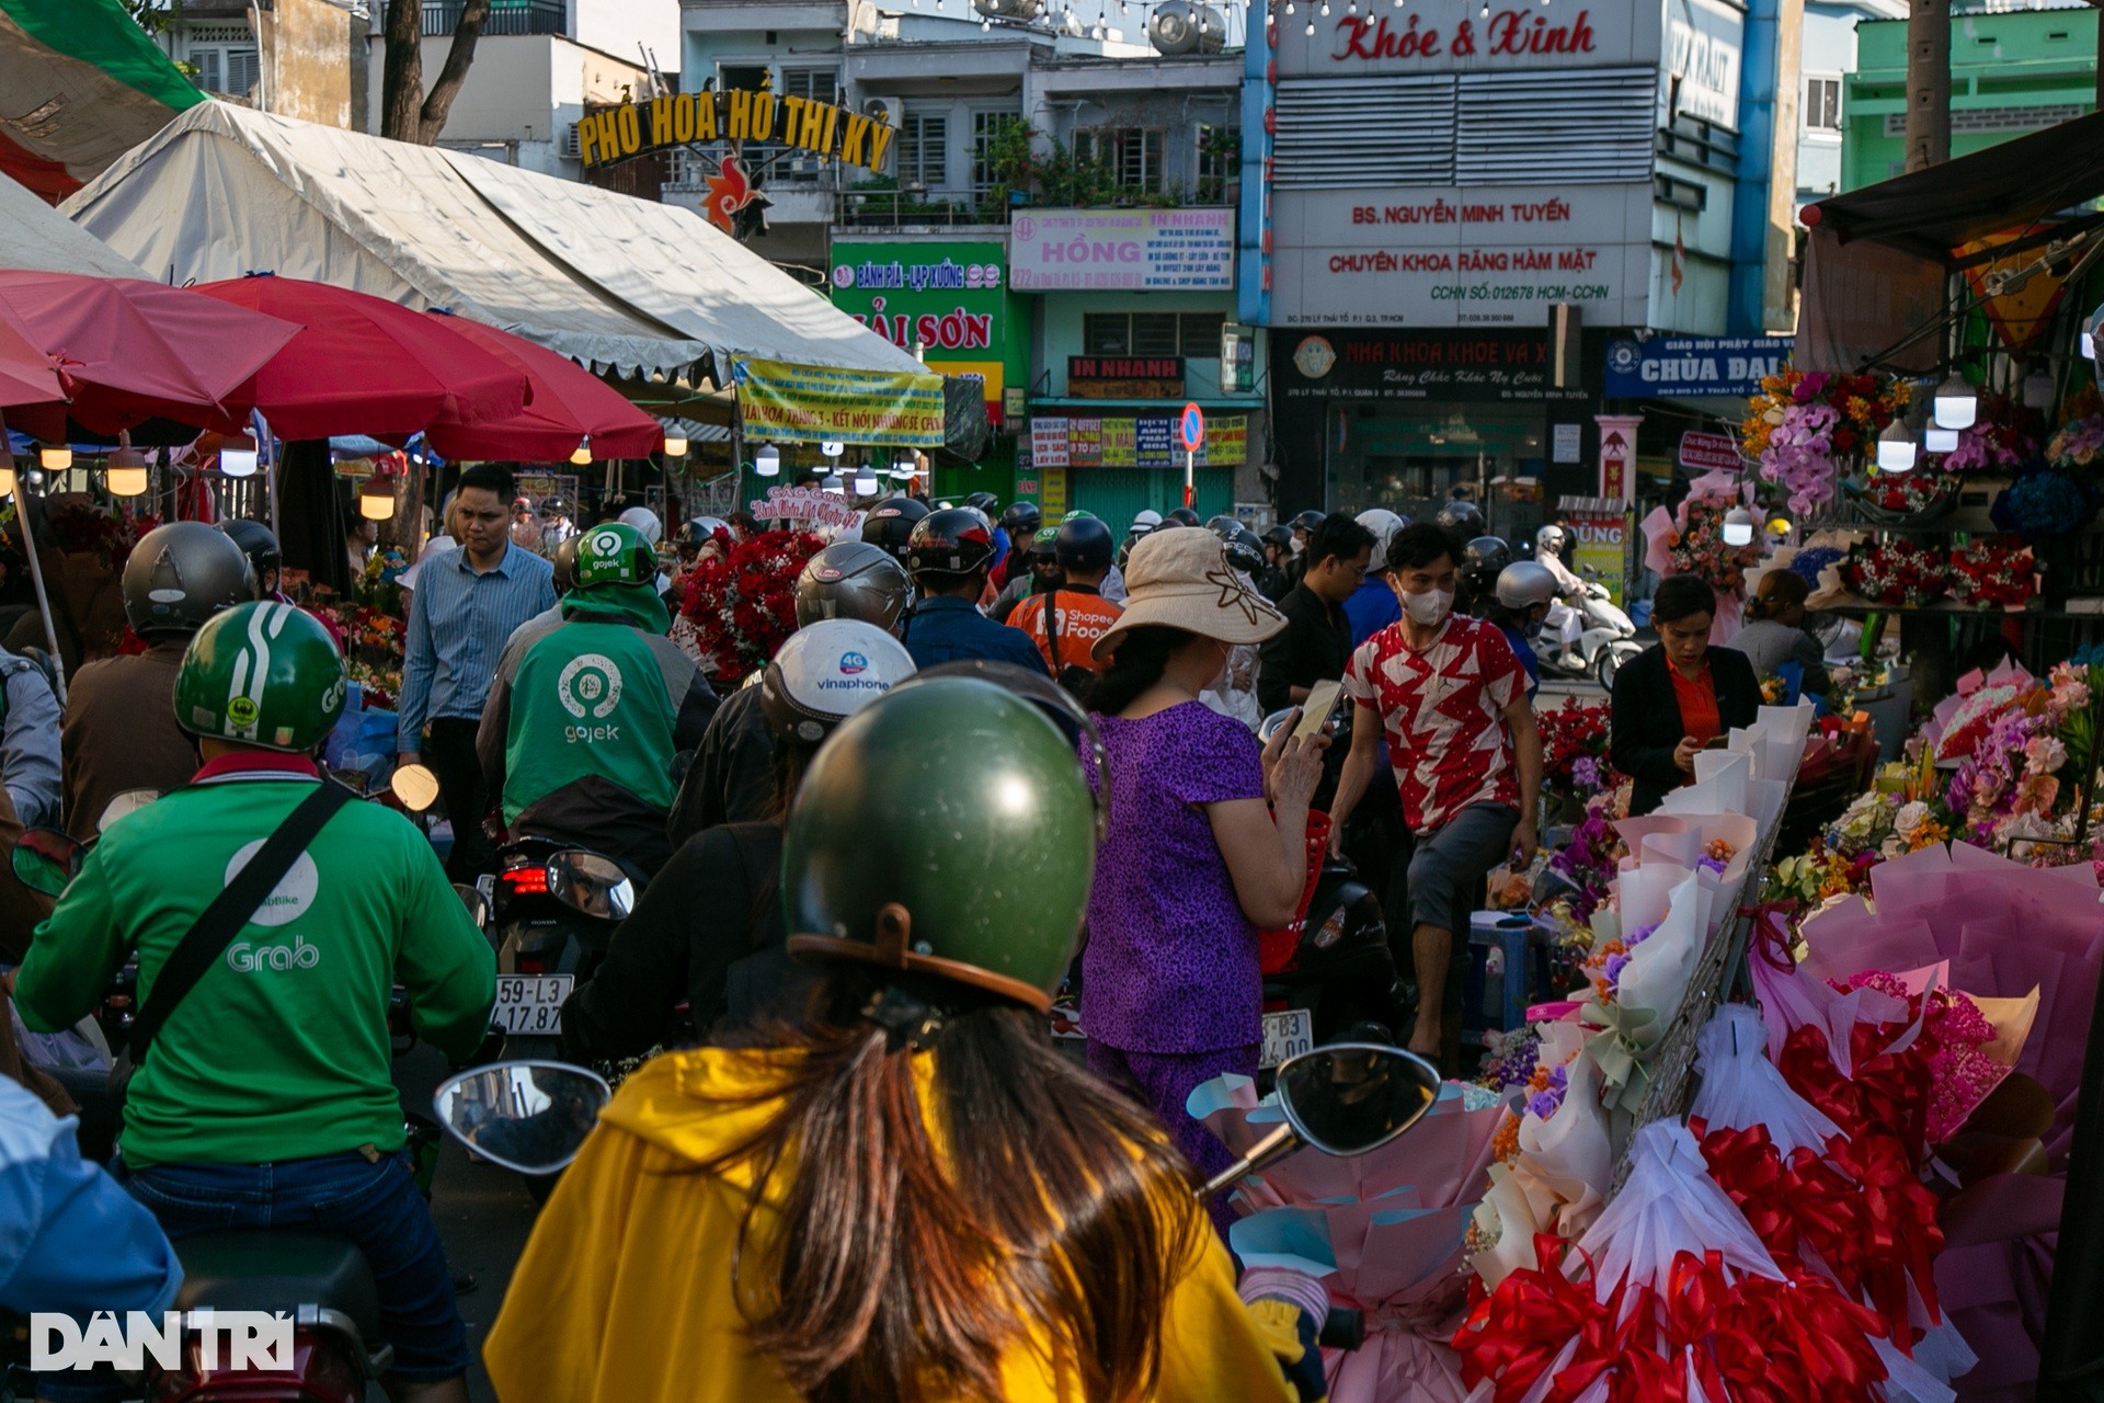
M 1504 709 L 1525 686 L 1504 633 L 1466 614 L 1452 614 L 1422 652 L 1399 623 L 1353 650 L 1344 692 L 1380 713 L 1412 833 L 1443 829 L 1471 804 L 1519 808 Z

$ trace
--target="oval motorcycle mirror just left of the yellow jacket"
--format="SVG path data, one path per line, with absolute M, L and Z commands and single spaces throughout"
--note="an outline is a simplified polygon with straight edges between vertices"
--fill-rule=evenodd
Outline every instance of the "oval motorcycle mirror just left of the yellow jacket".
M 614 1092 L 568 1062 L 492 1062 L 431 1094 L 446 1134 L 518 1174 L 555 1174 L 585 1148 Z

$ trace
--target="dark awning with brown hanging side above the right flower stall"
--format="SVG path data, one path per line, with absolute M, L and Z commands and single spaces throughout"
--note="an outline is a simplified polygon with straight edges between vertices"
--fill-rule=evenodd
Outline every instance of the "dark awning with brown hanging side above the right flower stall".
M 2093 223 L 2104 196 L 2104 111 L 2016 141 L 1807 204 L 1803 316 L 1791 364 L 1799 370 L 1881 368 L 1927 374 L 1942 339 L 1894 349 L 1944 311 L 1946 284 L 1965 244 L 2018 238 L 1999 255 L 2045 244 Z

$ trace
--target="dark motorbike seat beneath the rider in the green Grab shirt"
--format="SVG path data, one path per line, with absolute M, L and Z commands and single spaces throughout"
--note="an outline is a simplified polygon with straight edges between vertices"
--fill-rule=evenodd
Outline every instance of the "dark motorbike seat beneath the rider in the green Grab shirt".
M 179 1310 L 332 1310 L 358 1329 L 364 1350 L 381 1346 L 381 1298 L 358 1247 L 326 1233 L 231 1228 L 175 1245 L 183 1262 Z

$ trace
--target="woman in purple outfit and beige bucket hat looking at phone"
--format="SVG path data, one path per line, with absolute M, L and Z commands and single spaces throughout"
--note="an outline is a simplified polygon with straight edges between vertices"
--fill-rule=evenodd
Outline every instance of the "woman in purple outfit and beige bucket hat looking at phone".
M 1286 627 L 1218 536 L 1155 530 L 1132 549 L 1126 581 L 1126 612 L 1096 642 L 1109 667 L 1088 694 L 1111 814 L 1088 896 L 1081 1026 L 1090 1066 L 1153 1106 L 1210 1174 L 1233 1157 L 1185 1098 L 1222 1073 L 1256 1075 L 1256 932 L 1300 907 L 1321 745 L 1283 726 L 1260 749 L 1248 726 L 1199 700 L 1237 646 Z

